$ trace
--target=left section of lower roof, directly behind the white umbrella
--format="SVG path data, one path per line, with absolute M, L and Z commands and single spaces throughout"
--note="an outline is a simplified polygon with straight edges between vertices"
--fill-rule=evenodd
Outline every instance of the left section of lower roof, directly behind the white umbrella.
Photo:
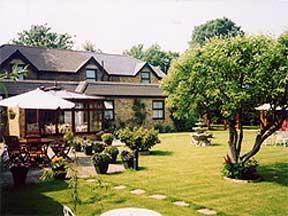
M 56 84 L 55 81 L 46 81 L 46 80 L 21 80 L 21 81 L 10 81 L 10 80 L 1 80 L 1 84 L 4 84 L 5 88 L 8 91 L 9 95 L 18 95 L 24 92 L 28 92 L 34 90 L 39 87 L 51 87 Z M 78 82 L 57 82 L 57 86 L 69 90 L 74 91 L 78 85 Z M 3 90 L 0 89 L 0 94 L 3 95 Z

